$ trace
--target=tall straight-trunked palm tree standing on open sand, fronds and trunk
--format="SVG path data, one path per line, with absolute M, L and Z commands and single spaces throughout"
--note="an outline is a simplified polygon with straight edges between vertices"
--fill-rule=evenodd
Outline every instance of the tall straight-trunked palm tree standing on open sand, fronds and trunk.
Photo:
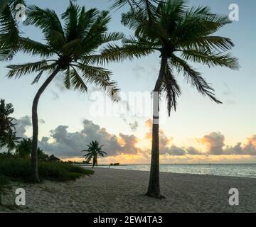
M 228 52 L 234 46 L 232 41 L 213 35 L 231 21 L 227 16 L 211 13 L 208 7 L 190 8 L 183 0 L 142 0 L 141 5 L 135 0 L 117 0 L 114 7 L 122 6 L 122 2 L 132 6 L 122 14 L 122 23 L 132 28 L 135 36 L 125 40 L 124 45 L 160 54 L 159 76 L 153 90 L 151 170 L 146 195 L 162 198 L 159 184 L 159 97 L 165 95 L 170 116 L 171 109 L 176 110 L 177 98 L 181 94 L 175 76 L 181 74 L 203 96 L 221 104 L 214 89 L 189 62 L 238 70 L 238 60 Z M 117 51 L 118 47 L 112 46 L 112 49 Z

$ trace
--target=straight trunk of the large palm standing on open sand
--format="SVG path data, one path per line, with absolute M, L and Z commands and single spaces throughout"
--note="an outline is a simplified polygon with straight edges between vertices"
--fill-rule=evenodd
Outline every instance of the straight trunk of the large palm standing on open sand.
M 147 196 L 154 198 L 164 198 L 160 194 L 160 180 L 159 180 L 159 91 L 161 82 L 164 78 L 164 71 L 166 68 L 167 57 L 162 56 L 159 77 L 156 81 L 153 94 L 153 125 L 152 125 L 152 148 L 151 148 L 151 167 L 149 176 L 149 187 L 146 192 Z

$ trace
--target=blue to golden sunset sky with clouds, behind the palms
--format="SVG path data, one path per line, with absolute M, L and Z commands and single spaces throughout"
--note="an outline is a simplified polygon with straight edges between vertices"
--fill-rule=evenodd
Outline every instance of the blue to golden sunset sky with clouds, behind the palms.
M 41 8 L 54 9 L 59 15 L 65 11 L 68 0 L 28 0 Z M 112 1 L 78 0 L 86 9 L 106 10 Z M 221 67 L 208 68 L 192 64 L 215 88 L 217 105 L 197 93 L 181 75 L 177 80 L 182 95 L 176 112 L 168 117 L 164 101 L 160 111 L 161 163 L 254 163 L 256 162 L 256 29 L 254 0 L 193 0 L 193 6 L 210 6 L 214 13 L 228 15 L 230 4 L 238 4 L 239 21 L 218 31 L 233 40 L 232 53 L 238 57 L 240 70 Z M 122 12 L 110 11 L 110 31 L 132 35 L 120 23 Z M 23 35 L 43 42 L 37 28 L 24 27 Z M 18 53 L 11 62 L 0 62 L 0 98 L 14 104 L 14 117 L 18 119 L 17 132 L 31 137 L 31 104 L 38 87 L 46 79 L 31 85 L 35 74 L 21 79 L 7 79 L 9 64 L 33 62 L 38 57 Z M 108 155 L 101 163 L 149 163 L 151 147 L 150 92 L 159 71 L 159 53 L 137 60 L 126 60 L 106 65 L 121 89 L 122 101 L 112 104 L 104 92 L 94 85 L 87 94 L 65 90 L 62 75 L 58 75 L 41 97 L 38 106 L 39 146 L 63 160 L 82 160 L 80 150 L 91 140 L 104 144 Z M 127 111 L 127 106 L 129 111 Z

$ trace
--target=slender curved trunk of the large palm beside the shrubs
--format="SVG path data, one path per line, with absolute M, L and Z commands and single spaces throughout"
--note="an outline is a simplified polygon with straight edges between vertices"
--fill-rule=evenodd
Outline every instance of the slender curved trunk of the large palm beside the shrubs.
M 32 170 L 32 180 L 33 182 L 39 182 L 38 176 L 38 101 L 40 99 L 41 94 L 45 91 L 46 87 L 50 84 L 53 78 L 58 74 L 60 71 L 59 68 L 53 71 L 50 74 L 50 77 L 46 79 L 46 82 L 38 89 L 35 98 L 33 99 L 33 106 L 32 106 L 32 125 L 33 125 L 33 140 L 32 140 L 32 153 L 31 153 L 31 170 Z

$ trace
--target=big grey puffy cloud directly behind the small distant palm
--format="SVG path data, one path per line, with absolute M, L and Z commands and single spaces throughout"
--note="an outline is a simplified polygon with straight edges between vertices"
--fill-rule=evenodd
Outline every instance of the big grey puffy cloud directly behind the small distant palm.
M 58 126 L 51 131 L 50 138 L 43 138 L 38 146 L 48 153 L 54 153 L 58 157 L 82 156 L 80 150 L 87 148 L 87 144 L 92 140 L 97 140 L 104 145 L 103 150 L 109 156 L 120 154 L 137 154 L 140 149 L 136 147 L 138 138 L 135 135 L 119 136 L 112 135 L 105 128 L 100 128 L 92 121 L 84 120 L 81 131 L 75 133 L 68 132 L 68 126 Z

